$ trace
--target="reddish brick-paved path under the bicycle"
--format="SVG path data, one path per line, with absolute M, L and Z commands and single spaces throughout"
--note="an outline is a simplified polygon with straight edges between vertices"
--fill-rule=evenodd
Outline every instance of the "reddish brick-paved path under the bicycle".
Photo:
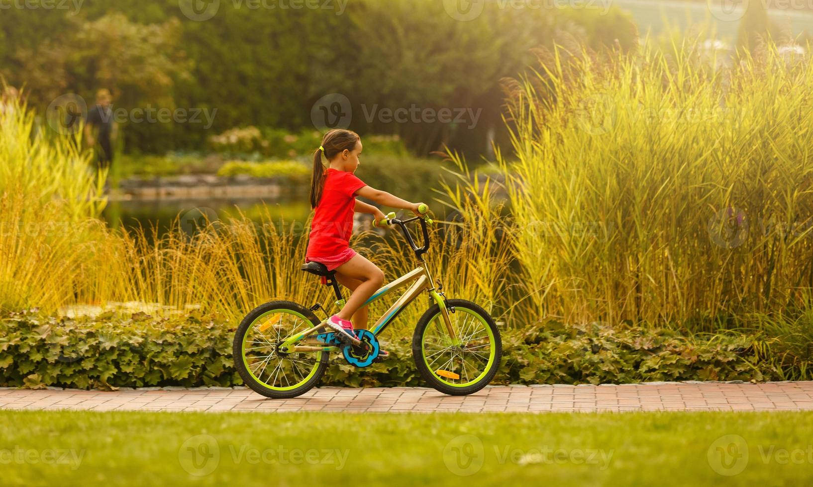
M 624 386 L 493 386 L 453 397 L 423 387 L 323 387 L 296 399 L 244 389 L 0 389 L 0 409 L 93 411 L 595 412 L 813 410 L 813 381 L 733 384 L 659 382 Z

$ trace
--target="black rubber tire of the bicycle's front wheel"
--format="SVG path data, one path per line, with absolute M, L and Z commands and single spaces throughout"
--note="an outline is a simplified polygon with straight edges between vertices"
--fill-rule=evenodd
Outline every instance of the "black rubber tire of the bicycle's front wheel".
M 429 368 L 426 361 L 424 361 L 424 331 L 435 317 L 441 321 L 443 319 L 440 314 L 441 308 L 437 304 L 433 304 L 430 308 L 428 308 L 428 310 L 426 310 L 426 312 L 424 312 L 424 314 L 420 317 L 420 320 L 418 320 L 418 325 L 415 326 L 415 334 L 412 336 L 412 358 L 415 360 L 415 367 L 418 368 L 421 377 L 424 377 L 424 381 L 426 381 L 428 385 L 432 386 L 434 389 L 439 390 L 443 394 L 449 395 L 474 394 L 478 390 L 487 386 L 489 382 L 493 380 L 494 375 L 497 373 L 497 369 L 500 366 L 500 360 L 502 358 L 502 339 L 500 338 L 500 332 L 497 329 L 497 323 L 494 322 L 491 315 L 489 315 L 489 313 L 486 312 L 485 309 L 481 308 L 478 304 L 472 303 L 472 301 L 468 300 L 448 300 L 448 305 L 451 308 L 462 308 L 468 310 L 469 312 L 476 313 L 482 318 L 483 321 L 485 321 L 485 324 L 488 325 L 489 329 L 492 331 L 493 343 L 491 343 L 491 346 L 494 349 L 495 355 L 493 360 L 489 361 L 489 369 L 485 371 L 485 375 L 469 386 L 450 386 L 446 382 L 442 381 L 440 377 L 437 377 L 435 373 L 433 373 L 432 369 Z M 450 313 L 450 317 L 453 318 L 454 315 L 455 313 Z

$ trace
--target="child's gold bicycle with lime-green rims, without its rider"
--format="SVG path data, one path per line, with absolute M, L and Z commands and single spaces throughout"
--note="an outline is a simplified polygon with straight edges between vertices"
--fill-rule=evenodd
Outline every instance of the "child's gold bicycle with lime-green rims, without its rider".
M 400 226 L 420 265 L 381 287 L 364 304 L 409 286 L 372 330 L 354 330 L 354 339 L 340 338 L 325 326 L 328 317 L 320 320 L 315 316 L 321 308 L 318 303 L 306 308 L 291 301 L 272 301 L 243 318 L 234 337 L 233 352 L 246 386 L 269 398 L 289 399 L 305 394 L 320 381 L 331 353 L 341 354 L 348 364 L 358 368 L 372 365 L 380 360 L 378 336 L 425 291 L 430 306 L 418 320 L 412 337 L 415 367 L 429 386 L 445 394 L 473 394 L 485 387 L 497 373 L 502 356 L 499 330 L 485 309 L 472 301 L 446 299 L 440 280 L 433 282 L 424 259 L 429 250 L 427 226 L 432 220 L 426 205 L 421 205 L 420 213 L 422 216 L 406 220 L 389 213 L 381 222 L 373 222 L 376 226 Z M 412 222 L 420 222 L 422 247 L 415 244 L 407 227 Z M 302 270 L 333 287 L 338 307 L 345 304 L 335 271 L 328 271 L 318 262 L 308 262 Z

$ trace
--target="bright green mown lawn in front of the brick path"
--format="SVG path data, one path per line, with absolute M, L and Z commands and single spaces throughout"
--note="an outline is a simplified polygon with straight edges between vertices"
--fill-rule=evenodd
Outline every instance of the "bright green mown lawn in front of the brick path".
M 0 412 L 0 483 L 809 485 L 811 425 L 813 413 Z

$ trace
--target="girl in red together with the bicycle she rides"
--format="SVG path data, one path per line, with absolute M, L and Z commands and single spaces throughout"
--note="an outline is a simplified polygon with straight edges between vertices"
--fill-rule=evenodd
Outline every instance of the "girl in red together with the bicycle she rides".
M 320 276 L 323 284 L 332 287 L 341 310 L 332 317 L 325 312 L 323 320 L 314 314 L 321 308 L 319 302 L 310 308 L 287 300 L 260 304 L 237 326 L 232 345 L 234 366 L 246 386 L 258 394 L 274 399 L 295 398 L 319 383 L 332 353 L 340 354 L 346 364 L 356 368 L 369 367 L 389 356 L 381 350 L 377 337 L 424 295 L 428 308 L 415 323 L 412 334 L 415 368 L 428 385 L 444 394 L 474 394 L 489 384 L 500 364 L 502 342 L 497 323 L 478 304 L 446 297 L 441 280 L 433 278 L 424 258 L 430 248 L 428 226 L 433 224 L 427 205 L 364 184 L 353 174 L 359 167 L 361 151 L 361 140 L 355 132 L 332 130 L 313 156 L 311 206 L 315 215 L 307 247 L 308 262 L 301 269 Z M 410 209 L 415 217 L 402 220 L 392 212 L 385 216 L 355 196 Z M 348 244 L 356 211 L 374 215 L 376 226 L 397 226 L 415 253 L 415 269 L 380 287 L 384 274 Z M 420 241 L 409 230 L 413 224 L 420 231 Z M 346 302 L 340 284 L 353 291 Z M 401 289 L 401 297 L 368 330 L 366 305 Z

